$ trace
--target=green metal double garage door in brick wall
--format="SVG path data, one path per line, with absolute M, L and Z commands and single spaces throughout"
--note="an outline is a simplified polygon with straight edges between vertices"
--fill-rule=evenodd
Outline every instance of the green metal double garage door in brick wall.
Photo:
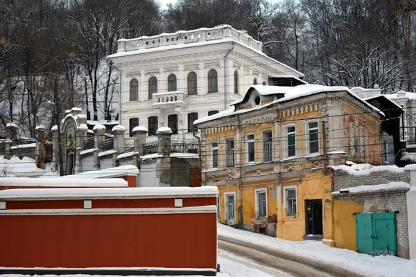
M 396 214 L 356 214 L 357 251 L 375 255 L 397 255 Z

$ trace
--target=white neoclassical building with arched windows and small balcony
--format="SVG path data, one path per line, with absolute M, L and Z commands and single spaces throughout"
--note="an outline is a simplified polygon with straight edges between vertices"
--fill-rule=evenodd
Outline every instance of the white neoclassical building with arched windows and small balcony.
M 221 25 L 120 39 L 111 60 L 121 71 L 120 124 L 171 127 L 192 136 L 193 121 L 229 108 L 252 84 L 302 82 L 303 74 L 261 51 L 245 31 Z

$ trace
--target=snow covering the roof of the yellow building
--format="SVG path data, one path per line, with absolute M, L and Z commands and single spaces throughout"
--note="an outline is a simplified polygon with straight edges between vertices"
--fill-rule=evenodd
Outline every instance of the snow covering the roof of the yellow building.
M 380 111 L 373 105 L 370 105 L 370 103 L 365 102 L 365 100 L 355 96 L 354 93 L 352 93 L 347 87 L 328 87 L 328 86 L 324 86 L 321 84 L 301 84 L 296 87 L 278 87 L 278 86 L 257 85 L 257 86 L 252 86 L 252 88 L 256 90 L 260 89 L 261 92 L 259 91 L 259 93 L 262 93 L 261 95 L 272 95 L 272 94 L 283 93 L 284 97 L 274 100 L 266 105 L 260 105 L 257 107 L 253 107 L 251 109 L 241 109 L 239 111 L 232 111 L 232 109 L 227 109 L 225 111 L 219 112 L 218 114 L 214 114 L 212 116 L 207 116 L 205 118 L 200 118 L 198 120 L 195 120 L 193 124 L 197 125 L 200 123 L 204 123 L 204 122 L 211 121 L 211 120 L 218 119 L 218 118 L 223 118 L 225 116 L 230 116 L 233 114 L 245 114 L 247 112 L 254 111 L 257 109 L 262 109 L 264 107 L 268 107 L 276 103 L 286 102 L 286 101 L 304 97 L 304 96 L 311 96 L 315 93 L 334 92 L 334 91 L 347 91 L 347 93 L 349 93 L 351 96 L 353 96 L 360 102 L 363 102 L 365 105 L 367 105 L 371 109 L 374 109 L 374 111 L 377 111 L 379 112 L 379 114 L 384 116 L 384 113 L 382 111 Z M 251 89 L 249 89 L 248 91 L 251 91 Z M 241 102 L 241 100 L 234 101 L 232 102 L 231 105 L 239 104 L 239 102 Z

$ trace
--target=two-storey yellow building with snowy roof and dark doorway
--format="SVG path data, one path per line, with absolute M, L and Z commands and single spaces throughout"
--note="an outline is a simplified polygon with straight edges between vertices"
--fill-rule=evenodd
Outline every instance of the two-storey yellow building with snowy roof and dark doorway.
M 232 105 L 195 123 L 202 185 L 220 190 L 220 222 L 332 244 L 326 169 L 346 160 L 381 164 L 383 114 L 345 87 L 315 84 L 254 85 Z

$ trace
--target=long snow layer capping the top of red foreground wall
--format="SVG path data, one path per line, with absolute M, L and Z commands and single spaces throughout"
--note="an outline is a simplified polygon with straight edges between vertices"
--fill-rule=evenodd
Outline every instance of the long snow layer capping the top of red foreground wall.
M 58 180 L 51 179 L 51 180 Z M 46 179 L 42 179 L 46 180 Z M 62 179 L 64 180 L 64 179 Z M 111 179 L 118 181 L 123 179 Z M 73 180 L 71 180 L 73 181 Z M 92 179 L 89 181 L 98 181 Z M 103 181 L 100 179 L 99 181 Z M 157 188 L 44 188 L 1 190 L 0 201 L 24 199 L 143 199 L 143 198 L 189 198 L 216 197 L 216 186 L 189 187 L 157 187 Z

